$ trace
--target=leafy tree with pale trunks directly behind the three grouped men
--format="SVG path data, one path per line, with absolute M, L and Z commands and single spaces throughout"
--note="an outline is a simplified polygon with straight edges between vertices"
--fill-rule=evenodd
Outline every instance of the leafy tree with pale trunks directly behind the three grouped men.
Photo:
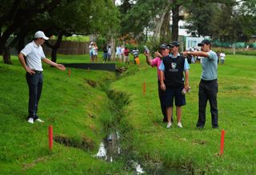
M 126 1 L 125 1 L 126 2 Z M 130 2 L 130 1 L 128 1 Z M 172 38 L 178 40 L 178 21 L 183 18 L 179 10 L 182 4 L 191 0 L 137 0 L 126 5 L 122 18 L 122 34 L 139 34 L 146 29 L 154 31 L 154 41 L 170 38 L 170 11 L 172 12 Z M 126 2 L 127 3 L 127 2 Z M 122 9 L 123 10 L 123 9 Z

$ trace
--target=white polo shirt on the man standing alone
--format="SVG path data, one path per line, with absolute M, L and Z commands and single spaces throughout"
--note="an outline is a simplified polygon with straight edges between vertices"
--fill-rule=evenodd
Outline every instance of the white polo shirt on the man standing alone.
M 42 71 L 41 60 L 46 58 L 42 46 L 37 46 L 33 41 L 27 44 L 21 53 L 26 56 L 26 66 L 30 67 L 31 70 Z

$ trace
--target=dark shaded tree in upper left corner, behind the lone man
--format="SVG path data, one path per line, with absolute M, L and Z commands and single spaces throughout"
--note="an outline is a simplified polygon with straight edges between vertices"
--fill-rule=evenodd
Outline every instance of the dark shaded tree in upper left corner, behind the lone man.
M 32 22 L 34 16 L 42 14 L 45 11 L 51 11 L 58 6 L 62 0 L 3 0 L 0 4 L 0 54 L 3 55 L 4 62 L 10 64 L 10 46 L 14 46 L 14 43 L 18 41 L 15 38 L 11 42 L 7 42 L 11 34 L 14 34 L 18 30 L 22 32 L 18 37 L 26 35 L 26 31 L 21 29 L 27 29 L 28 23 Z M 8 56 L 9 55 L 9 56 Z

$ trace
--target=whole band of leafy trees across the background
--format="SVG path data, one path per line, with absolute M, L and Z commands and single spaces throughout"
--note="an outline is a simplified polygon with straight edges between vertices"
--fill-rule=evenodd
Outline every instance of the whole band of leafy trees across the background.
M 255 0 L 2 0 L 0 54 L 10 63 L 10 48 L 21 50 L 36 30 L 58 36 L 50 45 L 56 61 L 62 36 L 94 34 L 111 42 L 130 36 L 138 42 L 178 40 L 178 22 L 185 19 L 191 34 L 221 42 L 246 42 L 256 33 Z M 183 10 L 185 13 L 180 13 Z M 185 16 L 183 14 L 186 14 Z M 170 19 L 172 25 L 170 25 Z M 12 37 L 10 37 L 12 36 Z

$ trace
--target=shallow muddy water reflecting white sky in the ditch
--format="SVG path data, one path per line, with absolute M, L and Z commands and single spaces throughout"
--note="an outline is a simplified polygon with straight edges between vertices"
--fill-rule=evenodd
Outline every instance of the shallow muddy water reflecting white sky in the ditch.
M 123 112 L 123 107 L 129 104 L 129 98 L 124 93 L 118 93 L 114 91 L 106 92 L 108 97 L 113 102 L 110 106 L 113 115 L 116 120 L 115 123 L 111 124 L 106 133 L 106 137 L 102 139 L 102 142 L 99 145 L 98 153 L 94 156 L 101 158 L 105 161 L 124 161 L 125 162 L 125 171 L 132 172 L 134 174 L 188 174 L 182 171 L 182 169 L 175 169 L 170 167 L 164 167 L 163 164 L 156 163 L 152 165 L 152 162 L 142 162 L 136 160 L 133 152 L 134 150 L 124 150 L 121 146 L 121 133 L 118 132 L 118 125 L 121 117 L 125 117 Z

